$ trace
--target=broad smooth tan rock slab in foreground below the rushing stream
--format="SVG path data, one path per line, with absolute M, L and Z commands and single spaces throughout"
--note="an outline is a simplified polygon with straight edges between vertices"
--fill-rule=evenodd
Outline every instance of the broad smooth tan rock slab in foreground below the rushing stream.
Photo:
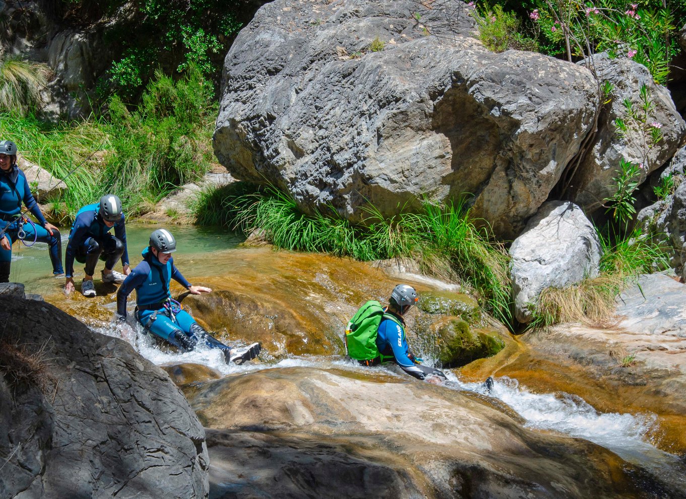
M 214 429 L 211 497 L 643 496 L 632 467 L 597 445 L 525 430 L 489 399 L 379 369 L 268 369 L 189 397 Z M 324 480 L 322 463 L 335 462 Z

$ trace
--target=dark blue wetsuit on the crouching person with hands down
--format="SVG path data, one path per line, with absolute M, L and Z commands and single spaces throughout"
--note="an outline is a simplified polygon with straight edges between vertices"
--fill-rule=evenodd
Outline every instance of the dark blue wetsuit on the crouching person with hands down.
M 121 258 L 122 266 L 129 263 L 128 248 L 126 247 L 126 220 L 121 213 L 121 219 L 114 224 L 115 235 L 109 233 L 112 227 L 107 227 L 98 213 L 99 203 L 82 207 L 71 225 L 67 251 L 64 253 L 65 277 L 74 275 L 74 259 L 86 264 L 86 275 L 93 275 L 98 259 L 105 261 L 105 267 L 112 270 Z

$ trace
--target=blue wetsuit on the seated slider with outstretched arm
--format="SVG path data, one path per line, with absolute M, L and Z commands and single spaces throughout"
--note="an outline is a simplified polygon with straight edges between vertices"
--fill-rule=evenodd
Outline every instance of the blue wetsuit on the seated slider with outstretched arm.
M 211 348 L 228 351 L 230 348 L 207 334 L 191 314 L 184 310 L 173 312 L 169 305 L 165 306 L 171 299 L 171 279 L 184 288 L 191 287 L 174 265 L 174 259 L 169 258 L 166 264 L 161 264 L 149 247 L 141 254 L 143 262 L 131 271 L 117 292 L 117 316 L 126 318 L 126 299 L 136 290 L 136 318 L 156 336 L 183 350 L 192 350 L 202 339 Z

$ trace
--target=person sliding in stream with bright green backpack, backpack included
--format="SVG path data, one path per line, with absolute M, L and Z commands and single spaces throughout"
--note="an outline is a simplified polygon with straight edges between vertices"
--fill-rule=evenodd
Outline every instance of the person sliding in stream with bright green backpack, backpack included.
M 445 381 L 442 371 L 422 365 L 407 345 L 403 316 L 417 301 L 412 286 L 399 284 L 393 288 L 388 307 L 382 308 L 378 301 L 362 305 L 346 328 L 348 356 L 366 366 L 394 361 L 405 373 L 419 380 Z

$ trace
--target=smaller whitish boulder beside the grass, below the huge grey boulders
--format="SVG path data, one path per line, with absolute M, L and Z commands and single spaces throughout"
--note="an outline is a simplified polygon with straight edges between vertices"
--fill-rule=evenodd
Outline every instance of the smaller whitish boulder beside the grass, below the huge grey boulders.
M 598 234 L 572 202 L 546 202 L 510 247 L 517 321 L 532 321 L 530 305 L 544 288 L 564 288 L 598 275 Z

